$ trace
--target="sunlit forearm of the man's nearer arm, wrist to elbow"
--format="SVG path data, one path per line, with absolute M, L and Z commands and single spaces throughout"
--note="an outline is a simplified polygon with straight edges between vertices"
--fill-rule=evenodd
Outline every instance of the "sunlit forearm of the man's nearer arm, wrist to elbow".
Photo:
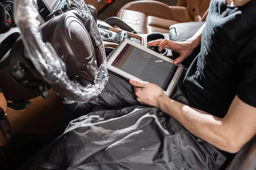
M 229 138 L 228 134 L 224 132 L 224 125 L 221 118 L 183 105 L 180 102 L 170 99 L 168 96 L 160 97 L 158 107 L 164 113 L 175 118 L 190 133 L 221 150 L 232 152 L 230 148 L 227 148 L 227 146 L 230 146 Z

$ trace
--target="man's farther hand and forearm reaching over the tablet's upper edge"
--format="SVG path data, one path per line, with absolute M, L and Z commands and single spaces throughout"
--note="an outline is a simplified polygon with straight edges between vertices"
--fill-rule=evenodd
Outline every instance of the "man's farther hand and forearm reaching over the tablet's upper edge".
M 180 62 L 183 62 L 184 59 L 188 58 L 194 49 L 201 45 L 201 37 L 203 33 L 203 29 L 205 27 L 205 23 L 201 28 L 186 41 L 174 42 L 167 39 L 154 40 L 147 43 L 148 46 L 159 46 L 159 51 L 163 50 L 163 47 L 166 47 L 170 50 L 177 51 L 180 54 L 180 57 L 177 57 L 174 60 L 174 64 L 177 65 Z

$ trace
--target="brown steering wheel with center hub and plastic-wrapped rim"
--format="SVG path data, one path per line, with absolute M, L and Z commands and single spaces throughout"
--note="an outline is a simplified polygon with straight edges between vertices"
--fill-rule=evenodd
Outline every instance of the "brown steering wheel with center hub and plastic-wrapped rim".
M 101 93 L 108 81 L 105 49 L 97 24 L 84 1 L 72 0 L 71 6 L 76 8 L 58 16 L 59 22 L 53 18 L 49 21 L 52 23 L 42 26 L 41 31 L 34 0 L 15 0 L 15 23 L 20 28 L 27 57 L 42 79 L 64 97 L 66 103 L 89 102 Z M 59 29 L 51 30 L 54 26 Z M 78 31 L 81 34 L 77 34 Z M 62 34 L 61 38 L 57 32 L 67 36 Z M 87 39 L 82 40 L 81 37 Z M 91 83 L 84 87 L 71 81 L 69 76 L 84 76 Z

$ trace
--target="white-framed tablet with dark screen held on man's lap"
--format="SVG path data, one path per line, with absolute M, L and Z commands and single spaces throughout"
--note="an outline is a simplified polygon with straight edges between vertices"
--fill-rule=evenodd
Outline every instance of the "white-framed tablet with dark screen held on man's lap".
M 126 79 L 159 85 L 171 96 L 184 66 L 131 40 L 123 40 L 108 58 L 108 70 Z

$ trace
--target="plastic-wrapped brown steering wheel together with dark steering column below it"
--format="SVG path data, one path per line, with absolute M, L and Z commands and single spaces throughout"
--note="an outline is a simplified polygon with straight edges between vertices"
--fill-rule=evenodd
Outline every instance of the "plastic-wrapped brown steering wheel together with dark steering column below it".
M 34 0 L 15 0 L 15 23 L 21 38 L 1 67 L 6 68 L 9 80 L 15 80 L 6 90 L 1 87 L 6 99 L 47 98 L 49 87 L 66 103 L 95 99 L 108 81 L 108 70 L 102 37 L 84 1 L 71 0 L 69 11 L 40 27 L 37 16 Z M 90 83 L 79 84 L 69 79 L 72 77 Z M 6 93 L 14 88 L 19 88 L 19 95 Z

